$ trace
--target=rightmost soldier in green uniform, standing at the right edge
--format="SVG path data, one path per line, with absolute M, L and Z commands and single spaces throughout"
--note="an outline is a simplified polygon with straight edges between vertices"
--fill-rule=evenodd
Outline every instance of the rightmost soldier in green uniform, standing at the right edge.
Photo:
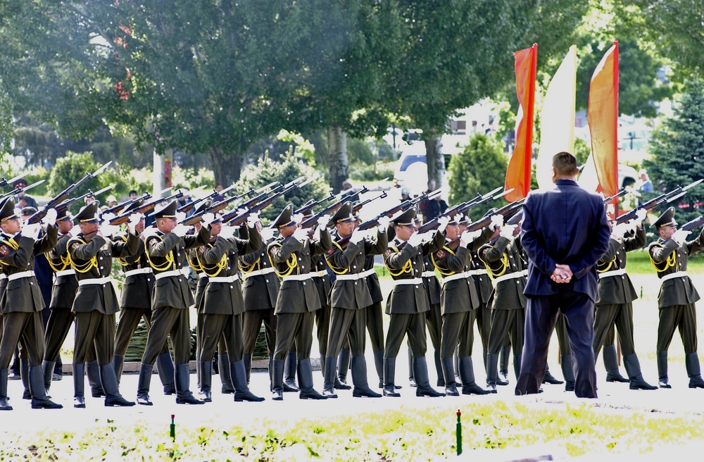
M 667 349 L 674 330 L 684 344 L 684 364 L 689 375 L 690 388 L 704 388 L 699 356 L 697 355 L 697 313 L 695 303 L 699 294 L 687 275 L 687 259 L 704 249 L 704 229 L 692 241 L 687 241 L 689 231 L 677 230 L 674 207 L 668 208 L 651 225 L 658 230 L 660 239 L 648 247 L 650 261 L 658 272 L 662 285 L 658 293 L 658 385 L 672 388 L 667 382 Z

